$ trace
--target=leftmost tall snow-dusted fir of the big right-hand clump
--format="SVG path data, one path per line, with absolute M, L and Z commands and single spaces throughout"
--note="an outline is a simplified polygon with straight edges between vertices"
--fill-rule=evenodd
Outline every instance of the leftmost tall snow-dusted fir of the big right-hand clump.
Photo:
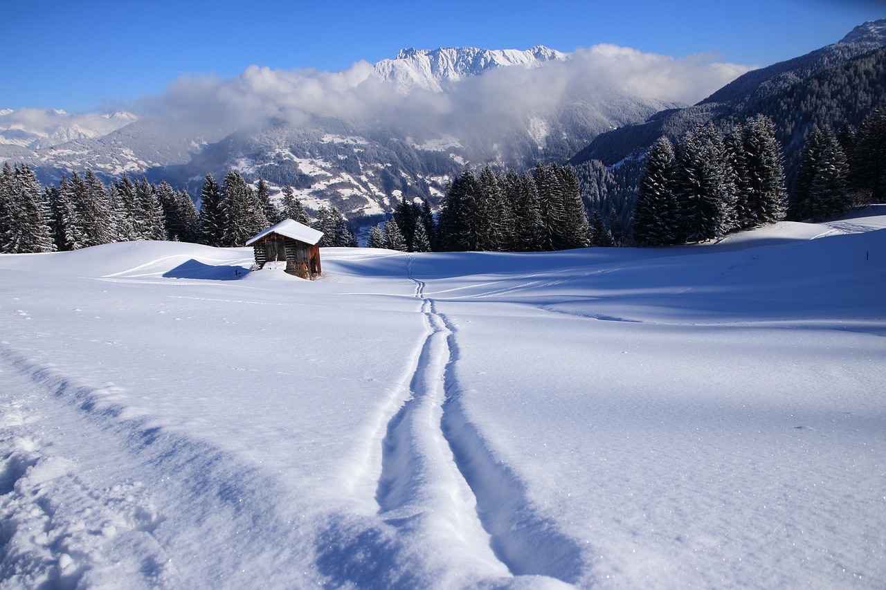
M 657 246 L 675 244 L 677 241 L 675 166 L 676 159 L 671 140 L 667 136 L 659 137 L 646 158 L 646 171 L 641 178 L 640 190 L 634 204 L 633 241 L 637 245 Z M 602 217 L 599 212 L 594 218 L 593 228 L 595 245 L 601 245 L 597 237 L 602 231 Z

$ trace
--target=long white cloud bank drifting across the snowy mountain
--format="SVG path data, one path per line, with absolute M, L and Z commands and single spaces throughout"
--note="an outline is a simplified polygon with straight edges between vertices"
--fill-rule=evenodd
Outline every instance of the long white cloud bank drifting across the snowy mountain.
M 751 68 L 707 56 L 672 58 L 617 45 L 579 49 L 567 61 L 536 68 L 501 67 L 444 85 L 444 92 L 398 93 L 360 61 L 340 72 L 249 66 L 237 77 L 185 76 L 161 97 L 145 98 L 151 113 L 203 120 L 226 128 L 271 118 L 300 123 L 311 116 L 393 120 L 410 128 L 474 128 L 544 113 L 564 100 L 626 92 L 664 102 L 695 103 Z

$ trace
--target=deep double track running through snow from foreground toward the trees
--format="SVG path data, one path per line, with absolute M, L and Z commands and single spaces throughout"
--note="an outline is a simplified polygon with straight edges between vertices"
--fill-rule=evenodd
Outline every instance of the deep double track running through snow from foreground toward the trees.
M 577 582 L 583 565 L 578 543 L 532 505 L 525 484 L 468 419 L 455 376 L 455 324 L 425 295 L 411 256 L 406 272 L 416 284 L 428 336 L 409 384 L 411 397 L 388 423 L 383 441 L 379 516 L 402 525 L 438 507 L 447 526 L 438 523 L 434 533 L 455 532 L 449 543 L 488 547 L 512 576 Z

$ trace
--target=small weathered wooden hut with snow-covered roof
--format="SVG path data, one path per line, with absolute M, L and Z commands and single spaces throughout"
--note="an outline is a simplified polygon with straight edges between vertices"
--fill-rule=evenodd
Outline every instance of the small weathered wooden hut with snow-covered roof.
M 268 262 L 286 262 L 290 275 L 313 279 L 320 275 L 320 246 L 322 231 L 308 228 L 304 223 L 284 219 L 251 237 L 246 245 L 253 246 L 255 264 L 264 268 Z

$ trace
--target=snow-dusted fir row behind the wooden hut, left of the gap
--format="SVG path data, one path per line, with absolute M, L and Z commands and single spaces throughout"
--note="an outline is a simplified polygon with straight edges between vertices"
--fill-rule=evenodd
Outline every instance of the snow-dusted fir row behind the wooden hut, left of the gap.
M 200 196 L 198 210 L 187 191 L 166 181 L 134 181 L 124 173 L 106 186 L 90 169 L 62 175 L 58 186 L 41 189 L 30 167 L 6 162 L 0 174 L 0 252 L 63 252 L 132 240 L 239 246 L 286 218 L 323 231 L 320 245 L 356 245 L 335 207 L 321 207 L 312 222 L 288 186 L 282 210 L 271 202 L 264 180 L 253 189 L 235 170 L 221 184 L 206 175 Z

